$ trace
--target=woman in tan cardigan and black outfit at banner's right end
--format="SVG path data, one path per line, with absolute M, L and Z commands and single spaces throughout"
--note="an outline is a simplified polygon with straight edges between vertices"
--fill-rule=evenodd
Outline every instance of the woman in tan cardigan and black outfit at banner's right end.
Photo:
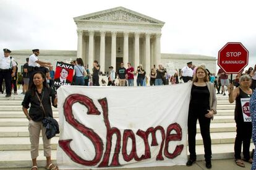
M 200 124 L 200 131 L 205 148 L 206 167 L 211 168 L 211 137 L 210 122 L 213 114 L 216 114 L 216 95 L 213 83 L 207 79 L 207 70 L 197 67 L 192 81 L 191 98 L 189 103 L 188 135 L 190 158 L 187 166 L 195 163 L 197 155 L 195 153 L 195 135 L 197 134 L 197 119 Z

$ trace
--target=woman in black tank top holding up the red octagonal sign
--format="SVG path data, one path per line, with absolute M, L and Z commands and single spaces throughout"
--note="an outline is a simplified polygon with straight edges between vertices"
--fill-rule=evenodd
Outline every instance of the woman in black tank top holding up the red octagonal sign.
M 249 106 L 249 100 L 252 96 L 253 90 L 250 88 L 252 78 L 249 75 L 242 75 L 239 80 L 240 87 L 235 88 L 233 84 L 229 85 L 229 103 L 236 101 L 236 108 L 234 111 L 236 121 L 236 140 L 234 143 L 235 162 L 237 166 L 245 167 L 241 159 L 241 149 L 244 154 L 244 161 L 252 163 L 250 158 L 250 138 L 252 138 L 252 122 L 250 115 L 247 116 L 249 109 L 242 107 L 245 104 Z

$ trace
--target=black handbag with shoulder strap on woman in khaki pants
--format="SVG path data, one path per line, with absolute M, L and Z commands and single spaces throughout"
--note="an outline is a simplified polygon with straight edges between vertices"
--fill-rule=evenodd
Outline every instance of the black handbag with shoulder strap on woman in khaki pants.
M 42 121 L 43 126 L 46 128 L 45 135 L 48 139 L 53 138 L 56 136 L 56 134 L 59 134 L 59 124 L 58 122 L 53 118 L 49 117 L 45 114 L 45 108 L 43 108 L 42 100 L 40 100 L 40 97 L 38 96 L 38 93 L 36 92 L 36 96 L 38 100 L 40 101 L 40 106 L 43 109 L 43 113 L 45 115 L 45 118 Z

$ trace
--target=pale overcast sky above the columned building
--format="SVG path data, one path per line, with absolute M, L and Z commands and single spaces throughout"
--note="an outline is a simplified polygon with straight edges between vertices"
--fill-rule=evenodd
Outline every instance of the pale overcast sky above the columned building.
M 256 1 L 249 0 L 0 0 L 0 48 L 76 50 L 73 17 L 118 6 L 165 22 L 161 53 L 217 57 L 239 41 L 256 64 Z

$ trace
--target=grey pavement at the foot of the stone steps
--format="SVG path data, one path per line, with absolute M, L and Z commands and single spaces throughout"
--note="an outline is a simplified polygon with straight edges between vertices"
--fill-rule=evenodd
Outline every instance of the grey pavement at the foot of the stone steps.
M 237 166 L 234 163 L 234 159 L 218 159 L 218 160 L 213 160 L 212 165 L 213 167 L 211 168 L 212 170 L 249 170 L 251 167 L 251 164 L 249 163 L 244 163 L 245 168 L 241 168 Z M 0 169 L 0 170 L 29 170 L 30 168 L 5 168 L 5 169 Z M 38 170 L 43 170 L 45 168 L 38 168 Z M 150 167 L 150 168 L 117 168 L 114 170 L 203 170 L 207 169 L 205 168 L 205 161 L 197 161 L 197 163 L 193 164 L 193 166 L 187 167 L 187 166 L 161 166 L 161 167 Z

